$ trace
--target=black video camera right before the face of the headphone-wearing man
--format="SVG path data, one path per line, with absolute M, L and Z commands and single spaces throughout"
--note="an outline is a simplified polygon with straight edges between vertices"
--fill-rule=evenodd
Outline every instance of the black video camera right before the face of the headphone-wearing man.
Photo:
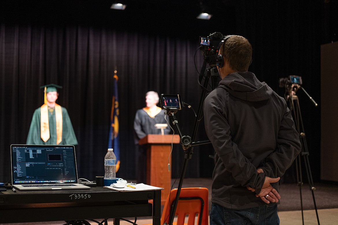
M 216 65 L 218 45 L 225 36 L 220 32 L 209 34 L 207 37 L 199 37 L 200 45 L 203 46 L 203 56 L 209 65 Z

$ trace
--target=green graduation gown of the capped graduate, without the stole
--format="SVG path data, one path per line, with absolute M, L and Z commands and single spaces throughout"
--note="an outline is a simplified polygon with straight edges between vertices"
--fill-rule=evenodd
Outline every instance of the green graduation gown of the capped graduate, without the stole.
M 70 121 L 68 111 L 66 108 L 61 106 L 62 110 L 62 141 L 59 145 L 77 145 L 76 136 L 72 123 Z M 49 119 L 49 139 L 47 142 L 44 142 L 41 139 L 41 107 L 35 109 L 32 122 L 30 123 L 30 128 L 27 136 L 27 145 L 56 145 L 56 119 L 55 119 L 55 110 L 52 115 L 48 111 Z

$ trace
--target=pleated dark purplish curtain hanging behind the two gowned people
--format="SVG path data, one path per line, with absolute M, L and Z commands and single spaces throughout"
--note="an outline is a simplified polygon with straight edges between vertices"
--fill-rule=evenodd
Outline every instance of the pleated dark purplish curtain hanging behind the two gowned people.
M 118 71 L 121 167 L 118 176 L 135 178 L 132 127 L 137 109 L 145 106 L 145 93 L 180 94 L 197 110 L 201 89 L 194 65 L 198 43 L 166 36 L 117 32 L 82 26 L 1 26 L 1 150 L 2 176 L 10 173 L 10 144 L 25 144 L 35 108 L 43 104 L 39 86 L 63 86 L 57 100 L 68 109 L 79 142 L 76 146 L 80 177 L 103 175 L 113 94 Z M 202 53 L 196 63 L 201 66 Z M 180 111 L 181 113 L 181 111 Z M 183 132 L 191 135 L 194 114 L 177 115 Z M 203 128 L 203 127 L 202 127 Z M 202 129 L 204 130 L 204 128 Z M 210 148 L 210 146 L 209 146 Z M 208 158 L 209 153 L 205 153 Z M 182 148 L 173 151 L 177 173 Z M 187 174 L 199 176 L 195 154 Z

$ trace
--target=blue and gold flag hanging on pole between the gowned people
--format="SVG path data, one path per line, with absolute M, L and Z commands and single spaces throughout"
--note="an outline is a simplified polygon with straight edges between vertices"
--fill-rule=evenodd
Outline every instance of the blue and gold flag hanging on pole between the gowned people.
M 112 98 L 112 111 L 110 115 L 110 130 L 108 148 L 114 149 L 116 156 L 116 172 L 120 168 L 120 138 L 119 138 L 119 97 L 117 92 L 117 80 L 119 77 L 114 75 L 114 95 Z

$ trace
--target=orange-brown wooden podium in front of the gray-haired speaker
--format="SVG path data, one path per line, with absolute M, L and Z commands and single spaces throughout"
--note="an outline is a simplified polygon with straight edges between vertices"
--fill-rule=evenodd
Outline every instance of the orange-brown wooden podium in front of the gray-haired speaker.
M 168 158 L 171 151 L 171 141 L 178 144 L 179 135 L 148 134 L 139 141 L 140 145 L 147 145 L 147 184 L 164 188 L 161 192 L 163 205 L 170 193 L 171 170 L 168 171 Z M 171 155 L 169 158 L 171 165 Z

